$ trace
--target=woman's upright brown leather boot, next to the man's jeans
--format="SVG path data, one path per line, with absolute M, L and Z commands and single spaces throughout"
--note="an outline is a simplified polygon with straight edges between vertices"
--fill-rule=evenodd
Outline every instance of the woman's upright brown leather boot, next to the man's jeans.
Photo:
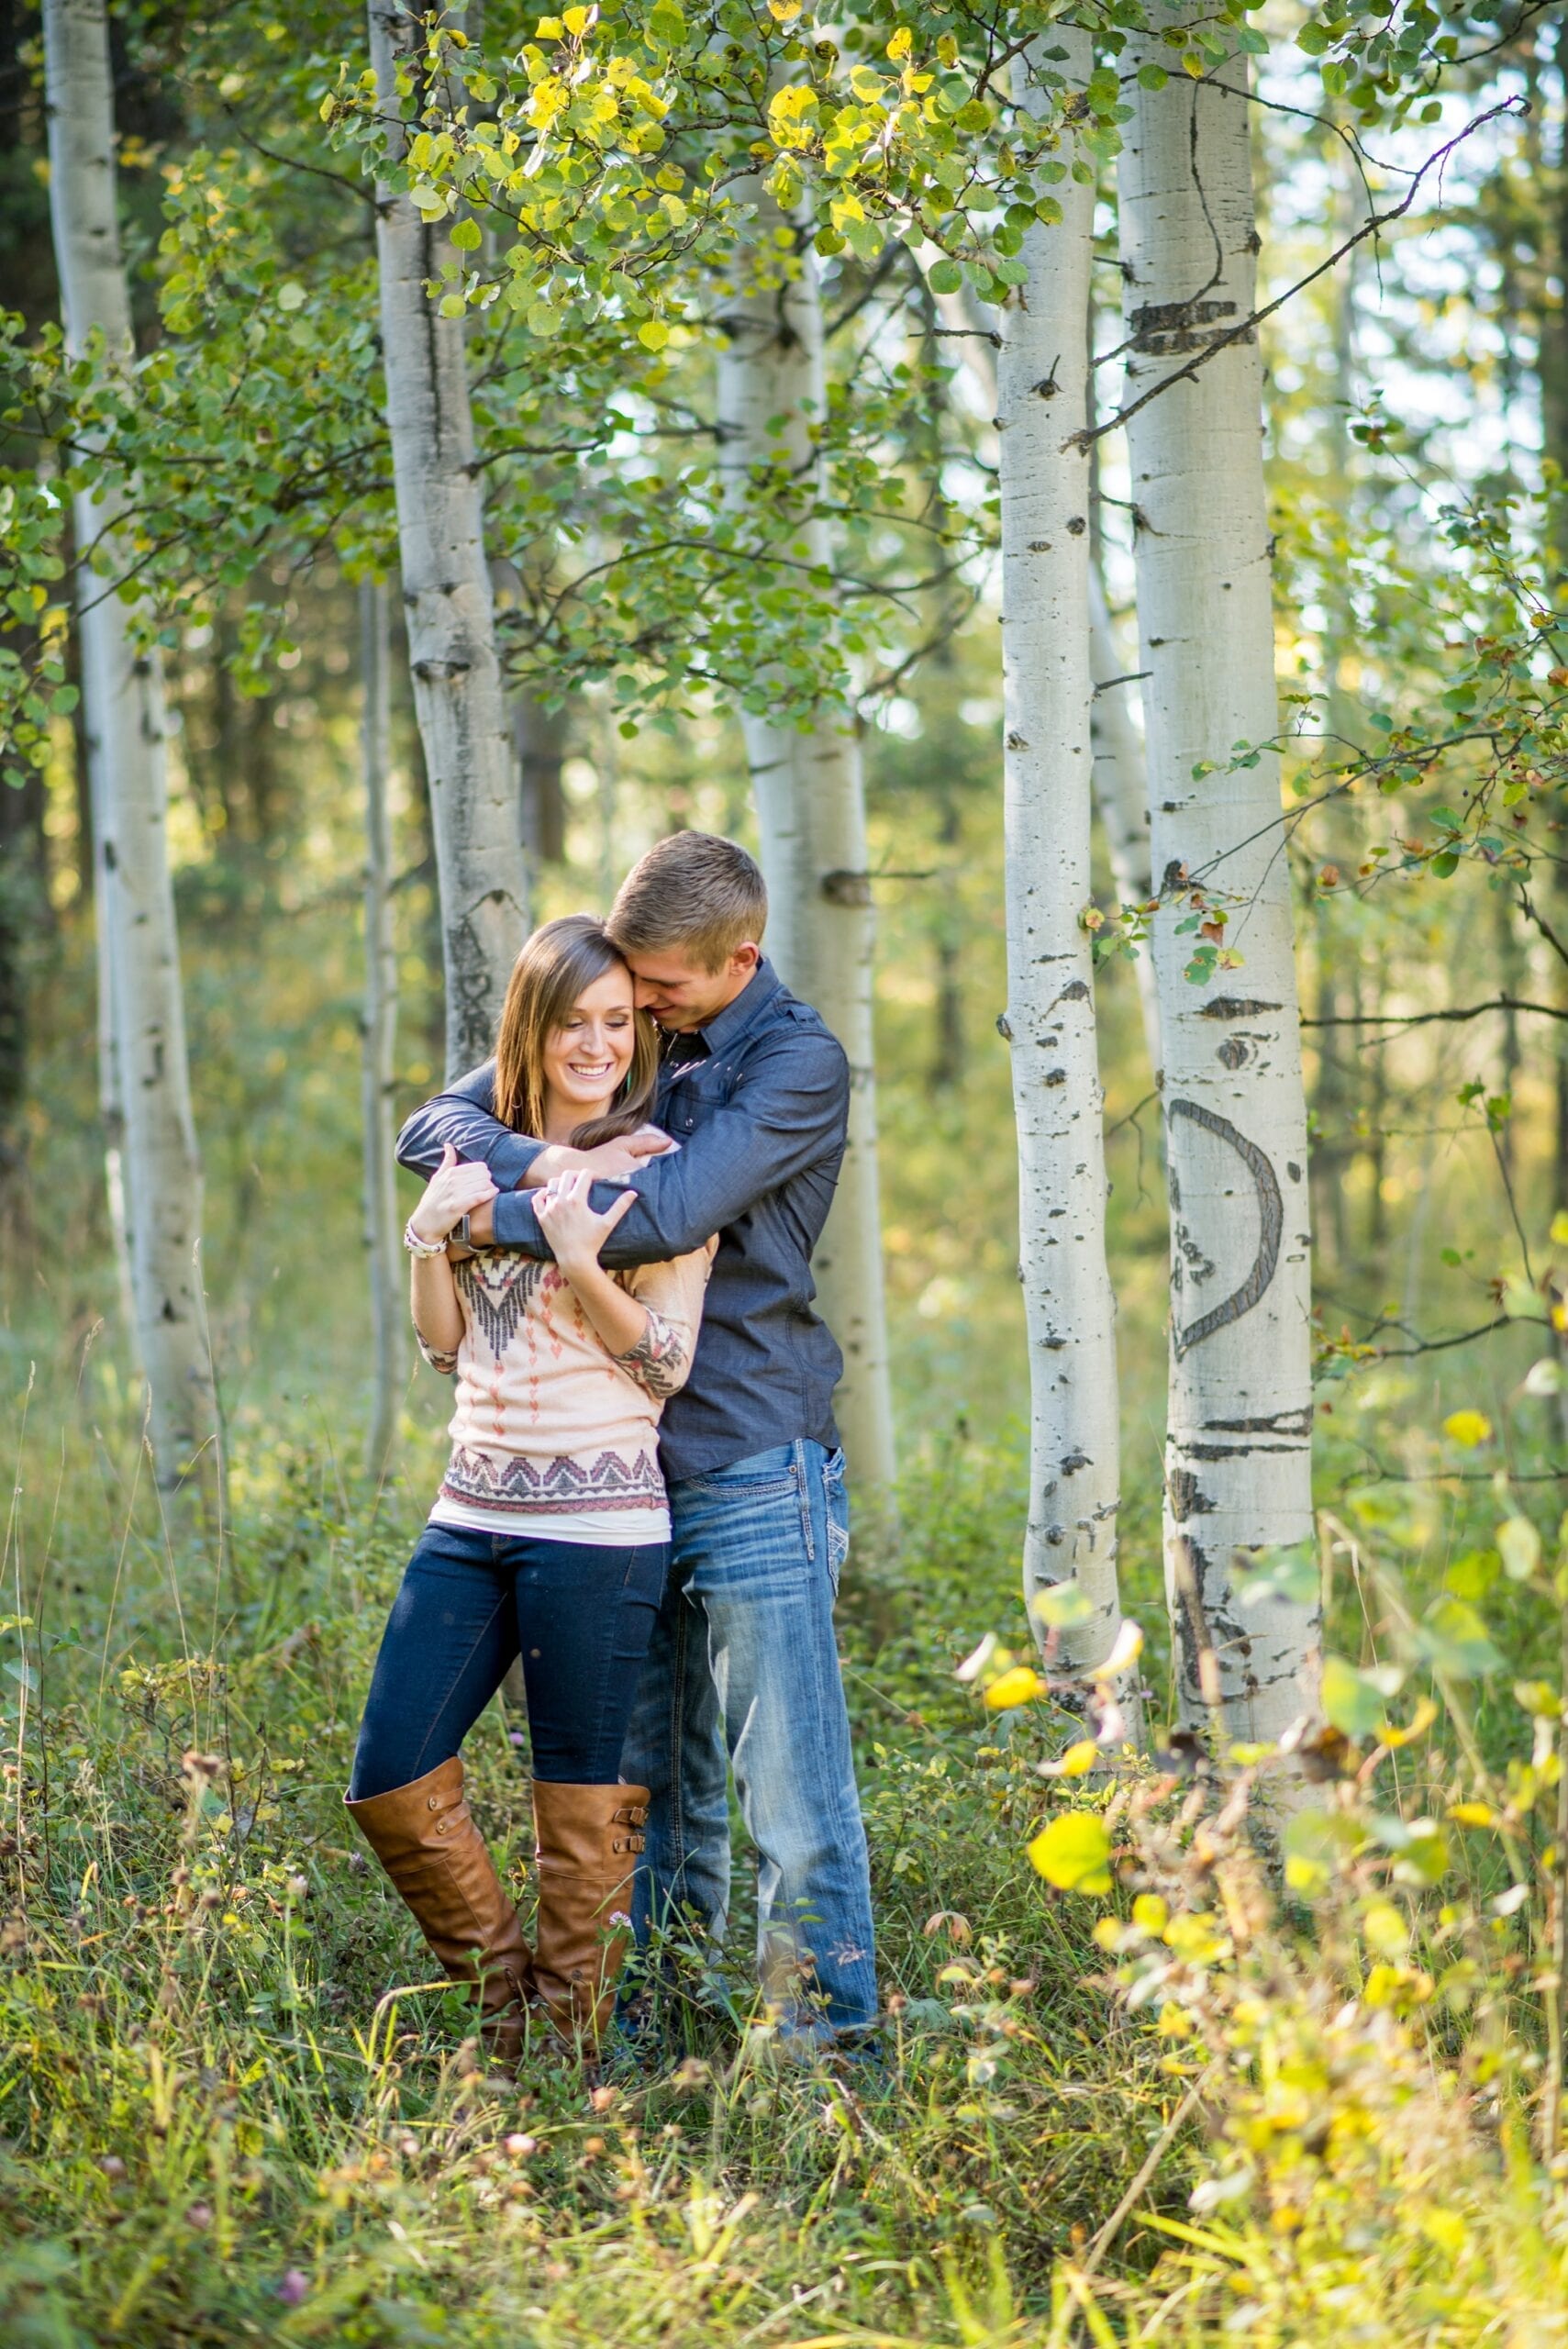
M 556 2030 L 599 2039 L 631 1943 L 646 1785 L 533 1781 L 540 1917 L 533 1973 Z

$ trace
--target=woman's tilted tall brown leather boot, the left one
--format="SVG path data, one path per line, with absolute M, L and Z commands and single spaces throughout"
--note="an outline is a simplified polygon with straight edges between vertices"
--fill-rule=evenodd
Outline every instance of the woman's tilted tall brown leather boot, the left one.
M 345 1795 L 343 1806 L 453 1983 L 479 1985 L 491 2053 L 514 2062 L 533 1997 L 533 1954 L 462 1797 L 462 1762 L 441 1762 L 366 1802 Z

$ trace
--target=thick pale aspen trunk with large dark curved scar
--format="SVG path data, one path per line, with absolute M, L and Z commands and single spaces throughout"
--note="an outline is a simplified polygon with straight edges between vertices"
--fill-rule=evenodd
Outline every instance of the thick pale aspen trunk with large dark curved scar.
M 1134 42 L 1131 63 L 1164 61 Z M 1129 85 L 1122 162 L 1127 395 L 1136 402 L 1253 308 L 1246 63 Z M 1171 1191 L 1167 1593 L 1181 1708 L 1272 1738 L 1317 1696 L 1319 1616 L 1239 1609 L 1235 1562 L 1312 1534 L 1307 1135 L 1291 897 L 1272 752 L 1270 547 L 1256 338 L 1127 425 L 1138 507 L 1138 667 L 1153 810 L 1162 1104 Z M 1216 761 L 1202 773 L 1202 761 Z M 1195 778 L 1195 768 L 1199 775 Z M 1244 961 L 1183 970 L 1183 876 L 1230 911 Z

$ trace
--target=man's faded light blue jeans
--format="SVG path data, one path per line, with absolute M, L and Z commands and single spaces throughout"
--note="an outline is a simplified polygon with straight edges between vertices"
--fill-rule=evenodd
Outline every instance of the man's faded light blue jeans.
M 669 1487 L 674 1562 L 622 1776 L 650 1790 L 638 1940 L 730 1907 L 725 1757 L 758 1856 L 758 1980 L 786 2032 L 876 2015 L 866 1830 L 833 1600 L 850 1548 L 843 1452 L 777 1445 Z

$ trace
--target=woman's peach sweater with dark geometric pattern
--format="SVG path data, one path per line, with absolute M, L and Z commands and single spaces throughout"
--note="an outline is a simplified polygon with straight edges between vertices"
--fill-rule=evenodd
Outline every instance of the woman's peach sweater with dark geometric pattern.
M 613 1355 L 554 1264 L 481 1250 L 453 1266 L 462 1341 L 432 1369 L 458 1393 L 437 1515 L 491 1532 L 594 1529 L 664 1541 L 669 1510 L 657 1433 L 685 1386 L 711 1245 L 613 1278 L 648 1311 L 638 1344 Z

